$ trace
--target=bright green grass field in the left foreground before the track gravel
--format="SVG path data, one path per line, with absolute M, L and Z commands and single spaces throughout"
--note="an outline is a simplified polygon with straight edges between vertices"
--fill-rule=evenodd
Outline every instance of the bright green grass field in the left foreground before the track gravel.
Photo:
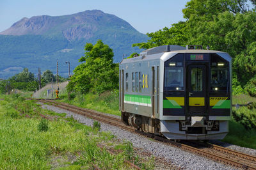
M 53 121 L 42 121 L 38 113 L 58 116 Z M 29 116 L 29 118 L 26 117 Z M 118 143 L 123 152 L 111 155 L 101 150 L 98 143 L 115 143 L 110 132 L 85 126 L 74 118 L 62 118 L 57 114 L 38 107 L 33 101 L 22 97 L 5 97 L 0 101 L 0 167 L 3 169 L 129 169 L 124 164 L 134 157 L 131 144 Z M 46 128 L 47 127 L 47 128 Z M 100 124 L 97 124 L 100 127 Z M 108 144 L 107 144 L 108 145 Z M 70 156 L 72 156 L 70 158 Z M 76 158 L 76 159 L 74 159 Z M 152 169 L 154 162 L 138 165 Z M 52 164 L 54 162 L 54 164 Z

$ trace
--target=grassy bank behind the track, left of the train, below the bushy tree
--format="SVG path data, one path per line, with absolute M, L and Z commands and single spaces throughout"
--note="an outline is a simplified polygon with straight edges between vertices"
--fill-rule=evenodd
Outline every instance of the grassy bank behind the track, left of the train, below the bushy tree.
M 60 102 L 66 102 L 78 107 L 106 112 L 108 114 L 121 115 L 118 107 L 118 91 L 106 91 L 100 95 L 93 93 L 87 93 L 85 95 L 73 93 L 72 97 L 72 100 L 68 100 L 67 92 L 62 93 L 60 94 Z

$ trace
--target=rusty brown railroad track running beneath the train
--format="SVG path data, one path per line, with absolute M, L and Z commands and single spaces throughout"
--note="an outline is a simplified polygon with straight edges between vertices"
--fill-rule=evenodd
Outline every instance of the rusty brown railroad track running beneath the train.
M 256 157 L 252 155 L 248 155 L 246 153 L 230 150 L 228 148 L 224 148 L 216 144 L 202 143 L 198 141 L 182 141 L 181 143 L 176 143 L 174 141 L 170 141 L 158 135 L 147 134 L 145 132 L 141 132 L 140 130 L 136 130 L 135 128 L 129 127 L 124 123 L 122 123 L 120 119 L 113 118 L 112 116 L 108 116 L 106 114 L 90 111 L 88 109 L 83 109 L 81 107 L 76 107 L 74 105 L 56 102 L 54 100 L 39 100 L 39 101 L 54 105 L 61 109 L 66 109 L 68 111 L 76 112 L 77 114 L 82 114 L 88 118 L 92 118 L 93 120 L 109 123 L 110 125 L 115 125 L 125 130 L 129 130 L 130 132 L 139 133 L 141 135 L 150 137 L 152 139 L 156 139 L 157 141 L 161 141 L 165 144 L 176 146 L 184 150 L 188 150 L 193 153 L 196 153 L 198 155 L 203 155 L 205 157 L 218 160 L 219 162 L 223 162 L 230 166 L 235 166 L 243 169 L 256 169 Z

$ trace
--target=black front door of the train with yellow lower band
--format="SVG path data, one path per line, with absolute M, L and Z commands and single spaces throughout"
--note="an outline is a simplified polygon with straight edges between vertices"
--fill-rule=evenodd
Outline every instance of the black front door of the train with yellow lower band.
M 188 66 L 188 114 L 204 115 L 206 112 L 206 66 L 205 65 L 189 65 Z

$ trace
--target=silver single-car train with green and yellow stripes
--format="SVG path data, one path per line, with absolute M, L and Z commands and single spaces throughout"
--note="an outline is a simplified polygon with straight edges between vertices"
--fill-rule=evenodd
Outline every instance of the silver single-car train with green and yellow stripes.
M 232 109 L 232 58 L 202 45 L 162 45 L 119 65 L 126 125 L 174 140 L 223 139 Z

